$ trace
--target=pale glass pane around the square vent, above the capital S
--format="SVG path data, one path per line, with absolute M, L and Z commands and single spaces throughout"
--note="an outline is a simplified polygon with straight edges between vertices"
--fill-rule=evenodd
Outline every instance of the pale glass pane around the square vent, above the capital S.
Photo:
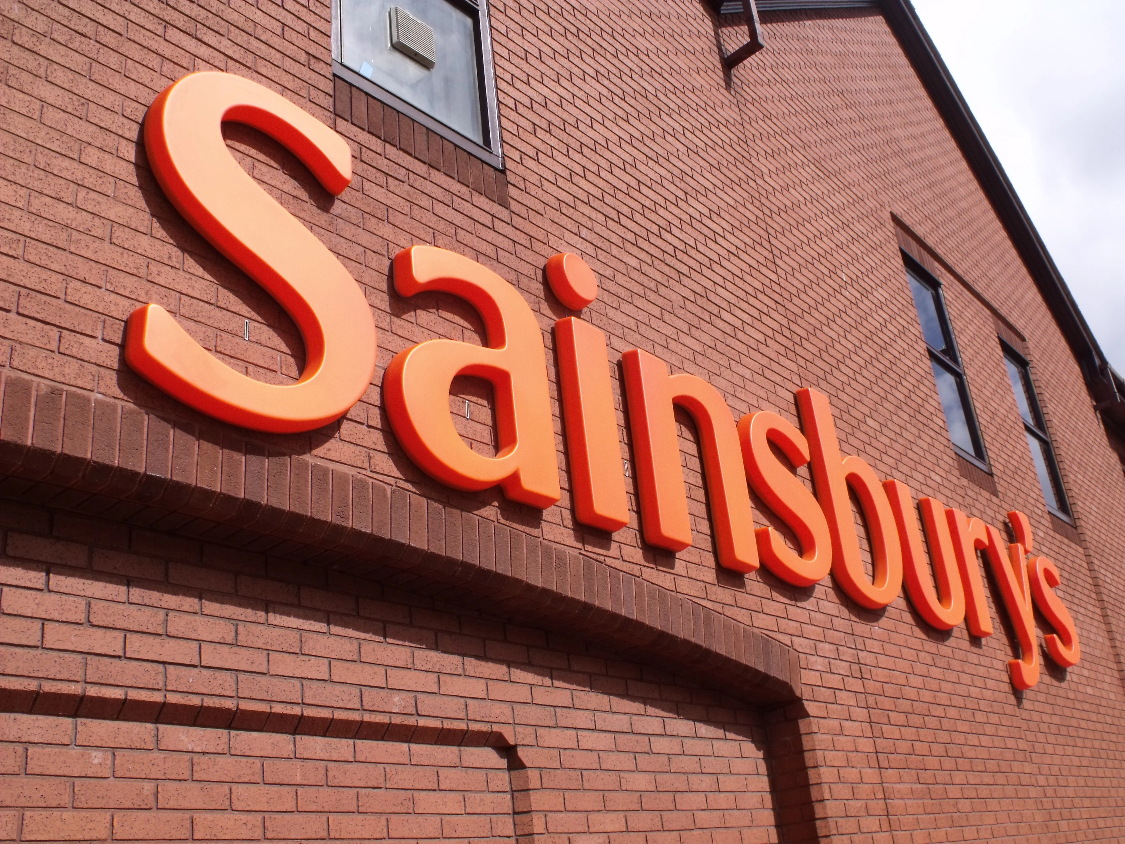
M 395 6 L 433 29 L 433 68 L 390 46 Z M 340 41 L 341 63 L 484 143 L 475 15 L 446 0 L 341 0 Z

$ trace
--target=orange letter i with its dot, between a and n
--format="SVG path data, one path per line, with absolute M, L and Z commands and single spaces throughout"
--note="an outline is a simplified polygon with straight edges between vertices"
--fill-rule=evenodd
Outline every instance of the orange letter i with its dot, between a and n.
M 597 297 L 594 271 L 575 254 L 554 255 L 547 262 L 547 282 L 572 311 L 580 311 Z M 612 532 L 629 523 L 629 500 L 605 335 L 568 316 L 555 323 L 555 349 L 575 518 Z

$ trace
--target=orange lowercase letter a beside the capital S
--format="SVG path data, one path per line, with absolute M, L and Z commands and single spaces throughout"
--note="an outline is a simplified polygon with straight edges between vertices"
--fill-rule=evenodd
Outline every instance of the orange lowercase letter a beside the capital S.
M 382 397 L 406 454 L 447 486 L 486 490 L 500 484 L 512 501 L 549 508 L 560 495 L 555 425 L 543 339 L 528 303 L 492 270 L 444 249 L 411 246 L 395 255 L 394 266 L 402 296 L 450 293 L 472 305 L 488 342 L 426 340 L 390 361 Z M 449 388 L 459 375 L 493 385 L 496 457 L 472 451 L 453 428 Z

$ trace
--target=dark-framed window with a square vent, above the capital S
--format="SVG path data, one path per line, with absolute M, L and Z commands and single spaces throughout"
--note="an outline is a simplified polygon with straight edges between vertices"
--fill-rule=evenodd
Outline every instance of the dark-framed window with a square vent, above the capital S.
M 484 0 L 335 0 L 333 70 L 501 167 Z

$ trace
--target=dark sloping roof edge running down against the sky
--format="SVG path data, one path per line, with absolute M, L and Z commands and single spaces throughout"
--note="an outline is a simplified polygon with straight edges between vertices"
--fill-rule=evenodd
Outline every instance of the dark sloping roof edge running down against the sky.
M 1062 329 L 1095 405 L 1114 423 L 1125 428 L 1125 399 L 1122 397 L 1125 379 L 1114 371 L 1098 345 L 1054 259 L 914 6 L 910 0 L 882 0 L 880 6 Z

